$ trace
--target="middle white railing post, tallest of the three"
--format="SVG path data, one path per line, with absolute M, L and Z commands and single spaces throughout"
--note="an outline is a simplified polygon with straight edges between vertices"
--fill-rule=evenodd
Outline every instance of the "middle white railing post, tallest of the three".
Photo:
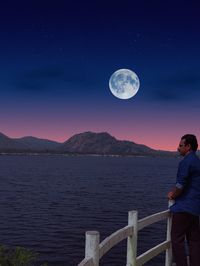
M 129 211 L 128 225 L 133 226 L 133 233 L 127 241 L 127 260 L 126 266 L 136 266 L 137 257 L 137 231 L 138 231 L 138 212 Z

